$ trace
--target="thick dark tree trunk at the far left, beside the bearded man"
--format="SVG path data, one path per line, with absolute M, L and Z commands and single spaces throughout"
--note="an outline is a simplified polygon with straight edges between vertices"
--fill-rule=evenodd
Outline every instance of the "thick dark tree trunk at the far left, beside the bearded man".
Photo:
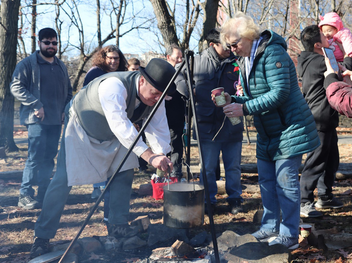
M 14 98 L 10 82 L 16 66 L 20 0 L 1 0 L 0 6 L 0 146 L 18 151 L 13 140 Z

